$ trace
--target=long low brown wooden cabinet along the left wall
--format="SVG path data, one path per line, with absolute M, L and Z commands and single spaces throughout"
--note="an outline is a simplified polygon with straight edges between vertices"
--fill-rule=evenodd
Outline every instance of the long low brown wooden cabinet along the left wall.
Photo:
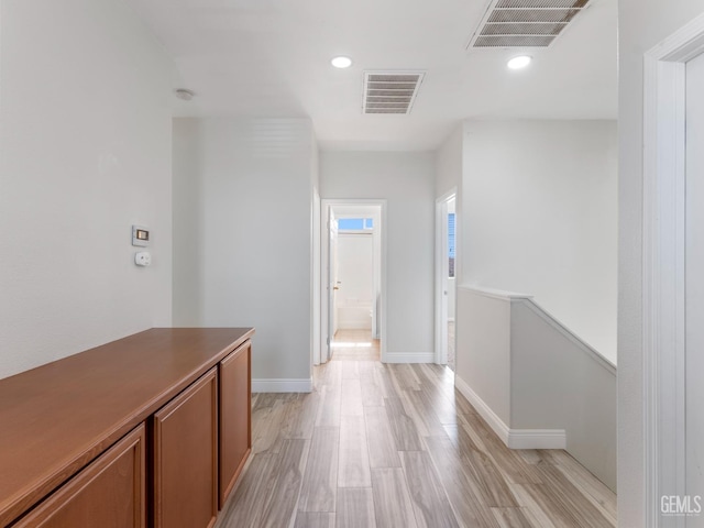
M 0 528 L 207 528 L 251 449 L 253 328 L 160 328 L 0 380 Z

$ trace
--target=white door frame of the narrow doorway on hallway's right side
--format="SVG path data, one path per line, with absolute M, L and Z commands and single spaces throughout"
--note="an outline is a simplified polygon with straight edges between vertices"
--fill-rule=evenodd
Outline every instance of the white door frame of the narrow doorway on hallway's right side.
M 455 241 L 455 254 L 454 254 L 454 280 L 457 288 L 458 279 L 458 208 L 457 208 L 457 187 L 450 189 L 448 193 L 436 199 L 436 363 L 439 365 L 446 365 L 448 363 L 448 302 L 446 292 L 446 271 L 447 263 L 447 222 L 444 217 L 447 215 L 448 202 L 454 199 L 454 241 Z M 457 298 L 457 297 L 455 297 Z M 457 309 L 455 309 L 457 314 Z

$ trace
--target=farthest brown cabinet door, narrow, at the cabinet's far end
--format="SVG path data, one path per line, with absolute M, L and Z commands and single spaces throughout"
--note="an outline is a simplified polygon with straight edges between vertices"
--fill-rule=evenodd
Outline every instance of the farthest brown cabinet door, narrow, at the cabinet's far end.
M 246 342 L 220 363 L 220 508 L 252 448 L 251 351 Z

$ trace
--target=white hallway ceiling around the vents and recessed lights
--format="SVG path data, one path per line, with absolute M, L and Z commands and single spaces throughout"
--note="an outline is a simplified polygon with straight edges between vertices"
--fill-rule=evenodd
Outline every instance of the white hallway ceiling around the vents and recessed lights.
M 617 0 L 592 0 L 520 72 L 515 50 L 465 51 L 486 0 L 125 1 L 196 92 L 175 116 L 309 117 L 322 150 L 433 150 L 468 118 L 616 118 Z M 409 116 L 362 114 L 369 69 L 427 72 Z

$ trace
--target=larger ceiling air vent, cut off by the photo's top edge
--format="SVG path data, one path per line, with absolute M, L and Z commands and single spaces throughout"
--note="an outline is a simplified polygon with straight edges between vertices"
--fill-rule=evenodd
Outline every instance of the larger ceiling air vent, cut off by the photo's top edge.
M 468 50 L 548 47 L 590 0 L 493 0 Z

